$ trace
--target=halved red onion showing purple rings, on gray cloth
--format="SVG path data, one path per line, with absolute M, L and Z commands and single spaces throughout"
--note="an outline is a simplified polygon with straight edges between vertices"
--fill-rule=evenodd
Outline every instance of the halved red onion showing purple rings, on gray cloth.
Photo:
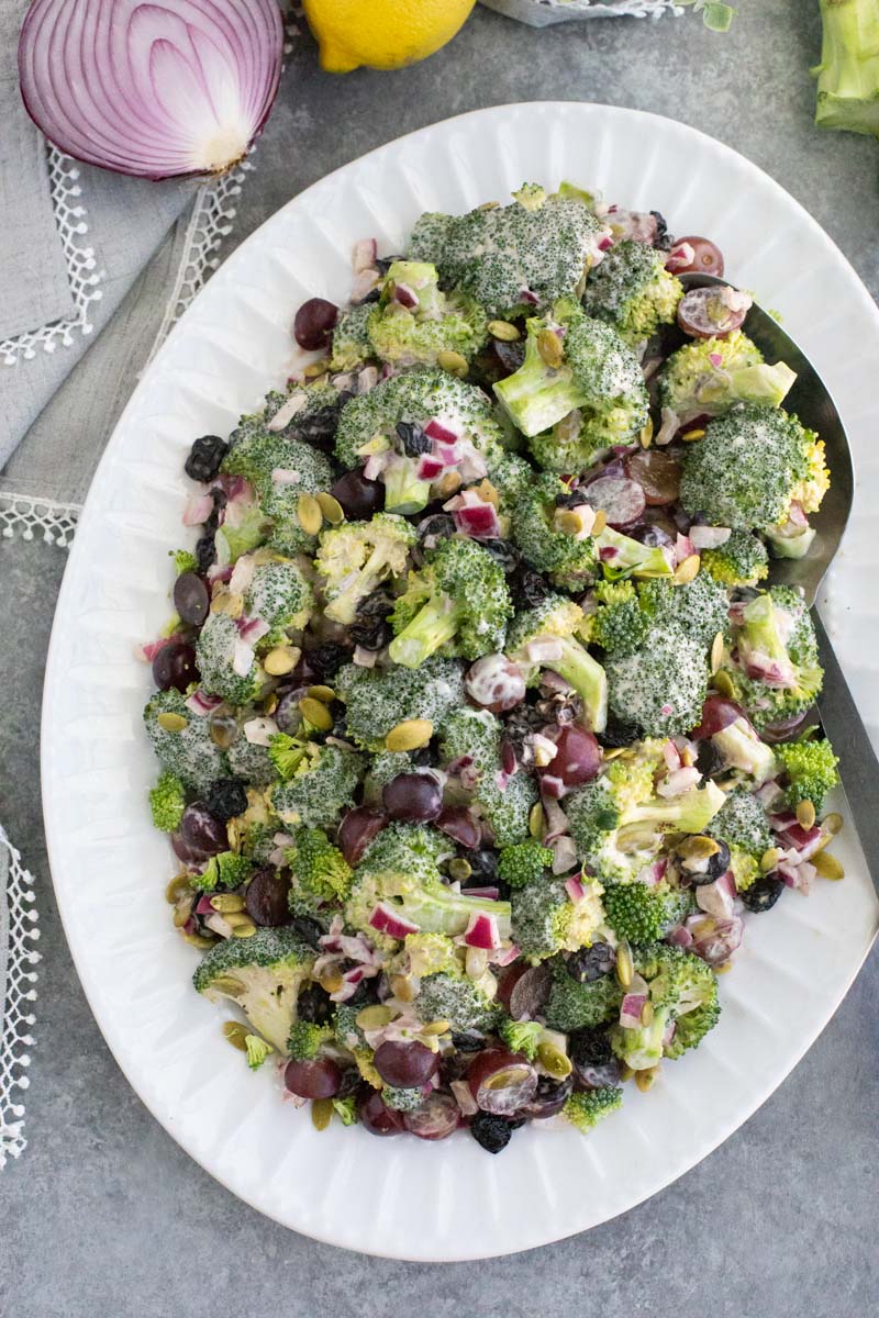
M 262 129 L 282 49 L 275 0 L 34 0 L 18 76 L 67 156 L 140 178 L 216 174 Z

